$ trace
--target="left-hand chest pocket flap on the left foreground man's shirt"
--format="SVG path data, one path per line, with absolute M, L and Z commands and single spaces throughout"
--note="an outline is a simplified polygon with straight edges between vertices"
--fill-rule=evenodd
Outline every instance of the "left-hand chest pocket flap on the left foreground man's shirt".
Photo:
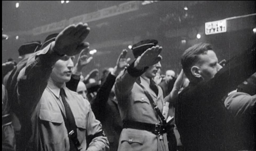
M 39 117 L 41 120 L 46 120 L 48 122 L 53 122 L 53 123 L 64 122 L 62 114 L 53 110 L 40 109 Z

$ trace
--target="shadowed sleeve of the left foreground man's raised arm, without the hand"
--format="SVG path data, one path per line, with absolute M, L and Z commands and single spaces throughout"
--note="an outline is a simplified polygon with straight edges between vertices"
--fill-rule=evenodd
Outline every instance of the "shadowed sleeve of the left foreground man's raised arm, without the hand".
M 34 53 L 28 59 L 26 67 L 18 75 L 19 105 L 28 112 L 33 110 L 39 102 L 47 86 L 52 67 L 59 59 L 59 56 L 50 47 L 51 44 Z

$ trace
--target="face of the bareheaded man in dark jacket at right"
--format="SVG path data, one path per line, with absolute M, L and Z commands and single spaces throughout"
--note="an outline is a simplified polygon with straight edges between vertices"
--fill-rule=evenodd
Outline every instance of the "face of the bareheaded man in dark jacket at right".
M 213 50 L 208 50 L 206 54 L 200 54 L 198 58 L 197 66 L 199 67 L 199 74 L 203 80 L 208 81 L 212 79 L 222 69 L 222 66 L 218 64 L 218 58 Z

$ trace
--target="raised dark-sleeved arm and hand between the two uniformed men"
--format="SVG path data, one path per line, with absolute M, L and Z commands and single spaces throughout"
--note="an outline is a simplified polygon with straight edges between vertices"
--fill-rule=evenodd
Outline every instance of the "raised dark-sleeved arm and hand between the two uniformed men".
M 116 96 L 112 90 L 116 77 L 128 65 L 127 50 L 120 54 L 114 70 L 108 74 L 105 82 L 91 101 L 91 108 L 97 120 L 102 123 L 102 129 L 110 142 L 110 151 L 117 151 L 118 141 L 123 129 L 123 122 L 119 114 Z

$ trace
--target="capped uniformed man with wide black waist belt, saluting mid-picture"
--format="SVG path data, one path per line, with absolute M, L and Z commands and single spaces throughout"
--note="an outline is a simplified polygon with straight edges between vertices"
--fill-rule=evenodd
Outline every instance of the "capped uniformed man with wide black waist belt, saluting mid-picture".
M 168 151 L 166 121 L 160 115 L 165 102 L 162 89 L 153 82 L 162 59 L 157 43 L 134 44 L 136 60 L 117 77 L 115 92 L 124 123 L 118 151 Z

